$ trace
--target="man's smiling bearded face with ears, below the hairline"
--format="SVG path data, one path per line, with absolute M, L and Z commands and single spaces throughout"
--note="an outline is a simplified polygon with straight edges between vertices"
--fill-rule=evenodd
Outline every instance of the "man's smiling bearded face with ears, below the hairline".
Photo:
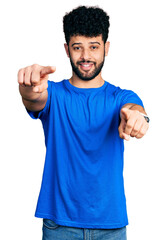
M 97 77 L 102 70 L 109 42 L 104 44 L 102 36 L 72 36 L 65 49 L 70 58 L 73 73 L 80 79 L 89 81 Z

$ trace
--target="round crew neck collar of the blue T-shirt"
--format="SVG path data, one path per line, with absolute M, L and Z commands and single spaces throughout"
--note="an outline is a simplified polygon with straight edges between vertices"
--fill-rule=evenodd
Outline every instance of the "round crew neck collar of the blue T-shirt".
M 107 81 L 104 80 L 104 84 L 101 86 L 101 87 L 97 87 L 97 88 L 78 88 L 78 87 L 75 87 L 74 85 L 72 85 L 69 81 L 69 79 L 65 79 L 64 80 L 66 86 L 68 88 L 70 88 L 71 90 L 75 91 L 75 92 L 82 92 L 82 93 L 89 93 L 89 92 L 98 92 L 98 91 L 101 91 L 103 90 L 106 85 L 107 85 Z

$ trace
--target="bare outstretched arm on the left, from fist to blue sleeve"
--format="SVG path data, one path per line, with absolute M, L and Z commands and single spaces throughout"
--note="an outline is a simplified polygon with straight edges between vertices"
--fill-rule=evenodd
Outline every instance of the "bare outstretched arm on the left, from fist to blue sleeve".
M 18 72 L 19 91 L 24 106 L 30 111 L 40 111 L 45 107 L 48 92 L 49 73 L 55 67 L 43 67 L 37 64 L 22 68 Z

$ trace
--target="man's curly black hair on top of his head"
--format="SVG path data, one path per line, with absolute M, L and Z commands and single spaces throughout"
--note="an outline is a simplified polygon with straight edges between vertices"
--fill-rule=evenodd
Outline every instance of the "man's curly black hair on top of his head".
M 67 44 L 72 36 L 97 37 L 100 34 L 106 43 L 109 26 L 109 16 L 99 7 L 79 6 L 63 17 L 63 30 Z

